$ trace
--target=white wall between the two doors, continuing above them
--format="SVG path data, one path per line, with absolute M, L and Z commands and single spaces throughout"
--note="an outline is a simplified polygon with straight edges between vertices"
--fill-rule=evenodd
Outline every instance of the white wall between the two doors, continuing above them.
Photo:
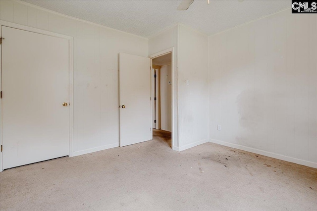
M 0 20 L 74 38 L 74 155 L 119 146 L 119 53 L 148 57 L 148 39 L 18 1 Z

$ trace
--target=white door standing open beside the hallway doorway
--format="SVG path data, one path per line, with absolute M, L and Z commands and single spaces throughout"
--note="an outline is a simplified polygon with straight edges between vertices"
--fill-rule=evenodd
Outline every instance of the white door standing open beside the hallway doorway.
M 120 146 L 152 139 L 151 60 L 120 53 Z

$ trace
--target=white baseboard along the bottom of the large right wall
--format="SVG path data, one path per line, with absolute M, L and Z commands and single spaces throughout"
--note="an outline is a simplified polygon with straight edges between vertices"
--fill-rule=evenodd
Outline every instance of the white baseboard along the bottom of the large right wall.
M 264 151 L 264 150 L 255 149 L 255 148 L 252 148 L 252 147 L 246 147 L 246 146 L 242 146 L 242 145 L 239 145 L 239 144 L 232 144 L 232 143 L 228 143 L 228 142 L 225 142 L 225 141 L 219 141 L 219 140 L 215 140 L 215 139 L 210 139 L 210 142 L 211 143 L 215 143 L 215 144 L 224 145 L 224 146 L 227 146 L 227 147 L 232 147 L 232 148 L 235 148 L 235 149 L 244 150 L 244 151 L 247 151 L 247 152 L 256 153 L 256 154 L 259 154 L 259 155 L 264 155 L 264 156 L 275 158 L 275 159 L 279 159 L 279 160 L 282 160 L 282 161 L 287 161 L 287 162 L 291 162 L 291 163 L 295 163 L 295 164 L 299 164 L 299 165 L 303 165 L 303 166 L 317 168 L 317 163 L 314 163 L 314 162 L 311 162 L 311 161 L 304 161 L 304 160 L 301 160 L 301 159 L 298 159 L 298 158 L 292 158 L 292 157 L 288 157 L 288 156 L 285 156 L 285 155 L 275 154 L 275 153 L 272 153 L 272 152 L 267 152 L 267 151 Z

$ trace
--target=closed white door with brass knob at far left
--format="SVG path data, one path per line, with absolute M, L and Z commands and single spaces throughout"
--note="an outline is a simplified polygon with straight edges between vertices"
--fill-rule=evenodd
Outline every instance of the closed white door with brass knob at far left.
M 3 169 L 68 155 L 69 41 L 1 29 Z

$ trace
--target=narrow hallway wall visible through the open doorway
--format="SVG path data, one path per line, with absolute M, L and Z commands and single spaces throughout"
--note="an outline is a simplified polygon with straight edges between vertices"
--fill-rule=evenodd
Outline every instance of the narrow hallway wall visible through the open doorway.
M 172 130 L 172 80 L 171 65 L 163 65 L 159 70 L 160 79 L 160 127 L 162 130 Z

